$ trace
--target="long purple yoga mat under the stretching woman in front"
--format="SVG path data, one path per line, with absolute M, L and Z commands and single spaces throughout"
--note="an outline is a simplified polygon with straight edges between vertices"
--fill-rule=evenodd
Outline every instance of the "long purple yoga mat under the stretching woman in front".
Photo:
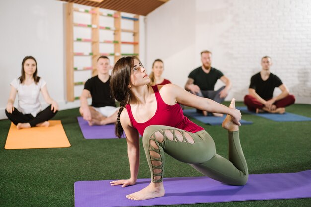
M 225 185 L 208 177 L 164 178 L 165 196 L 144 201 L 127 194 L 146 187 L 150 179 L 136 185 L 110 186 L 111 180 L 75 182 L 75 207 L 124 207 L 176 205 L 311 197 L 311 170 L 297 173 L 249 175 L 244 186 Z

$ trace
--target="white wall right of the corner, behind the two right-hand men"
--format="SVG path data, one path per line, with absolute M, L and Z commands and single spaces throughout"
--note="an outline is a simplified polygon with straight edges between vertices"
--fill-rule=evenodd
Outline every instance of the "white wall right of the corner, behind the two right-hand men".
M 191 23 L 172 24 L 168 8 L 174 18 Z M 153 28 L 159 19 L 161 26 Z M 166 28 L 184 28 L 187 41 Z M 165 77 L 177 85 L 184 86 L 189 72 L 201 64 L 200 52 L 207 49 L 213 52 L 212 66 L 233 82 L 227 100 L 243 100 L 250 77 L 261 70 L 261 57 L 268 55 L 271 72 L 296 96 L 296 103 L 311 104 L 311 0 L 170 0 L 147 16 L 146 36 L 148 65 L 163 58 Z M 180 45 L 153 43 L 160 37 Z M 166 52 L 172 48 L 182 50 Z

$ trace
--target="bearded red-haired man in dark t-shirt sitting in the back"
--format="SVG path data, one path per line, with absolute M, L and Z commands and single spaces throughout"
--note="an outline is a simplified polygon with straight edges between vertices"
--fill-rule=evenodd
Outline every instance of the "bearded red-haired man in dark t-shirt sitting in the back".
M 185 89 L 200 97 L 212 99 L 218 103 L 224 101 L 231 87 L 230 80 L 224 74 L 211 67 L 212 53 L 210 51 L 201 52 L 202 65 L 194 69 L 188 76 Z M 220 79 L 225 86 L 214 91 L 217 80 Z M 201 112 L 201 111 L 199 111 Z M 206 111 L 202 111 L 203 115 L 207 115 Z M 223 116 L 223 114 L 213 113 L 214 116 Z

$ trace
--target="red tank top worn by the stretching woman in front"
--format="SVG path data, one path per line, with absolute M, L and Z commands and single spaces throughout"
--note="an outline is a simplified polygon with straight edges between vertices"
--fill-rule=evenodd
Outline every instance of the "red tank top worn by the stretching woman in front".
M 202 127 L 196 125 L 186 116 L 184 116 L 183 111 L 178 103 L 175 105 L 166 104 L 163 101 L 157 86 L 152 86 L 152 88 L 156 95 L 157 109 L 156 114 L 151 119 L 144 123 L 137 123 L 133 117 L 130 104 L 125 106 L 128 111 L 132 126 L 136 128 L 141 135 L 143 135 L 145 128 L 150 125 L 171 126 L 192 133 L 203 130 Z

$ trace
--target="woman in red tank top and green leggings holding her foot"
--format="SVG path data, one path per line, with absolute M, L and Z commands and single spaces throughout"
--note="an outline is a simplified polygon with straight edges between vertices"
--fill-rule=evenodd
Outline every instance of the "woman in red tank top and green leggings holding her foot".
M 229 108 L 188 93 L 179 86 L 149 86 L 150 79 L 137 57 L 123 57 L 111 74 L 111 89 L 120 101 L 116 135 L 123 130 L 128 145 L 130 178 L 111 185 L 134 185 L 139 168 L 139 134 L 151 172 L 150 184 L 126 197 L 145 200 L 164 196 L 164 152 L 190 164 L 202 174 L 230 185 L 244 185 L 248 180 L 246 160 L 239 141 L 241 113 L 233 99 Z M 229 160 L 216 154 L 212 137 L 182 113 L 183 104 L 213 113 L 228 114 L 223 127 L 228 130 Z

